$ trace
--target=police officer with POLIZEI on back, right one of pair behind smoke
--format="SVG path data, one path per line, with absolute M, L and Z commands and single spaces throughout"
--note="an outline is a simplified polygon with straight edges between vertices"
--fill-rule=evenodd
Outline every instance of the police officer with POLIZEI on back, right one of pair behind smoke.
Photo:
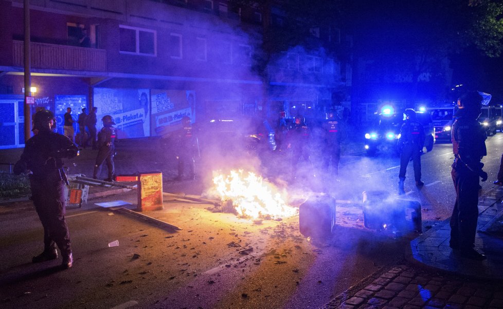
M 330 168 L 332 162 L 332 169 L 335 177 L 339 175 L 339 161 L 340 161 L 340 142 L 346 138 L 346 130 L 342 122 L 342 115 L 339 115 L 335 110 L 330 110 L 327 114 L 327 120 L 322 124 L 325 130 L 325 147 L 324 147 L 324 168 Z

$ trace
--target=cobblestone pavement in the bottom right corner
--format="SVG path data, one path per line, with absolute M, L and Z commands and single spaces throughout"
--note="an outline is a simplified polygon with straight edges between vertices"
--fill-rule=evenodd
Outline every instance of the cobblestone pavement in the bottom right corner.
M 340 294 L 324 309 L 502 308 L 503 285 L 398 265 Z

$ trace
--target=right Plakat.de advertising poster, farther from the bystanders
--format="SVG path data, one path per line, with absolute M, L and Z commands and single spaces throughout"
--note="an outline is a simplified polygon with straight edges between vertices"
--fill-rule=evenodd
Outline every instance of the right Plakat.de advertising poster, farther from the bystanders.
M 152 136 L 163 136 L 176 130 L 183 117 L 195 121 L 195 91 L 152 89 L 151 131 Z

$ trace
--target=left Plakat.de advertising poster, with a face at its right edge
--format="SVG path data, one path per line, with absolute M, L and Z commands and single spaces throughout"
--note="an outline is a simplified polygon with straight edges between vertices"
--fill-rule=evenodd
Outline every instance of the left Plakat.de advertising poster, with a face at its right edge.
M 98 131 L 104 115 L 111 115 L 119 139 L 150 136 L 150 90 L 94 88 L 94 106 L 98 108 Z

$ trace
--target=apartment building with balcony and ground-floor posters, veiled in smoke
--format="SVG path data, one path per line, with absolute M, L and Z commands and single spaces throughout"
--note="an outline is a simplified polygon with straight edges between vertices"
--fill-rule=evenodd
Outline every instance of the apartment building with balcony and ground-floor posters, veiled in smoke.
M 24 144 L 23 10 L 23 0 L 0 1 L 0 148 Z M 94 106 L 120 138 L 154 137 L 185 115 L 321 113 L 350 86 L 333 57 L 298 48 L 259 66 L 262 22 L 258 8 L 227 1 L 30 0 L 31 110 L 62 124 L 67 107 L 77 119 Z

